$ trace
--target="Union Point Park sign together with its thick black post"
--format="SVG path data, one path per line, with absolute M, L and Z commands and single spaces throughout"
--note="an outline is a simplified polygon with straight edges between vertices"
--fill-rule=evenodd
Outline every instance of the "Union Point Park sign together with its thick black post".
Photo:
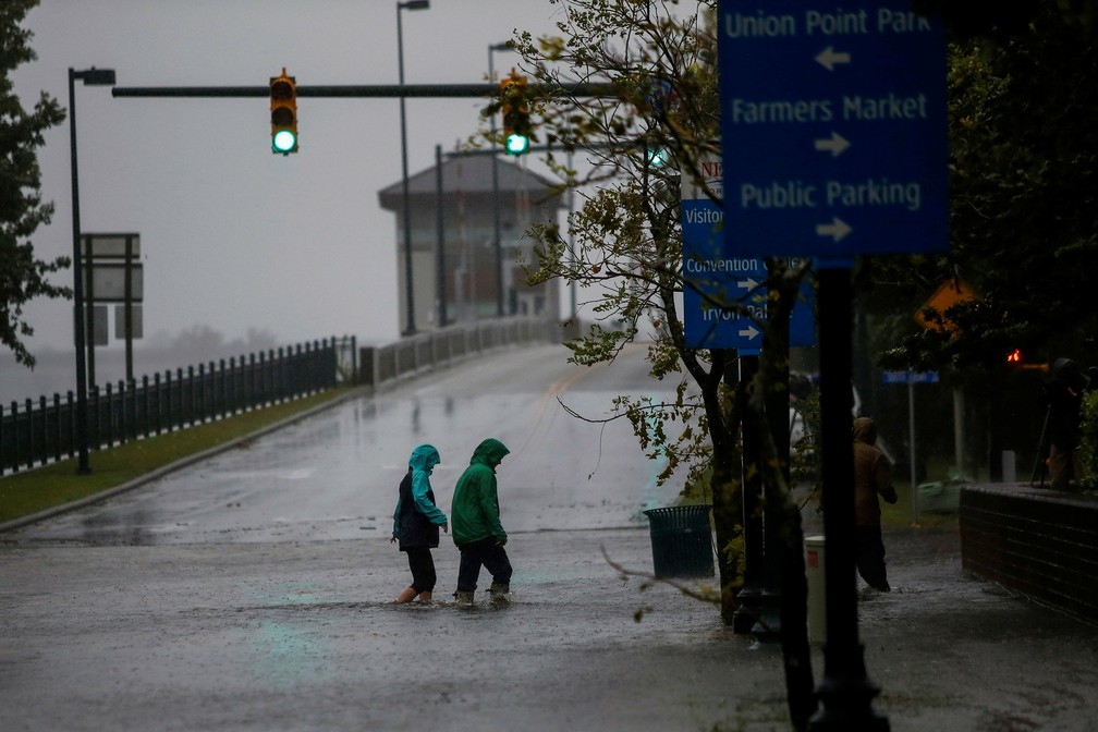
M 858 638 L 853 258 L 944 251 L 945 40 L 911 0 L 719 0 L 726 251 L 818 262 L 827 645 L 809 729 L 888 730 Z

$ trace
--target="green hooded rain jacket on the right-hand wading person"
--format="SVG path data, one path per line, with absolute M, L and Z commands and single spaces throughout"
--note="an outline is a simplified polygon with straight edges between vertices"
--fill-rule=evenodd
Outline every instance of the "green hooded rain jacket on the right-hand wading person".
M 500 440 L 488 438 L 473 450 L 469 468 L 458 478 L 450 504 L 450 531 L 459 547 L 489 537 L 501 542 L 507 540 L 507 532 L 500 523 L 495 466 L 509 452 Z

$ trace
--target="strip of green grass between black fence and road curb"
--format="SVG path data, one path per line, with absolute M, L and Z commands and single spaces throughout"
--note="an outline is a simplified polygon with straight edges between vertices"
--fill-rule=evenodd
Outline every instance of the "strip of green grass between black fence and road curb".
M 135 440 L 89 455 L 91 473 L 78 475 L 77 460 L 0 477 L 0 523 L 103 493 L 191 455 L 257 432 L 349 393 L 334 388 L 217 421 Z

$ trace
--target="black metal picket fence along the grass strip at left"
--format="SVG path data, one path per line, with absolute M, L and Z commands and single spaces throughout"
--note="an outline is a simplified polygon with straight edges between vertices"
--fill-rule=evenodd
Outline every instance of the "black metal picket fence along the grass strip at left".
M 350 362 L 348 363 L 348 357 Z M 165 371 L 88 390 L 88 447 L 109 448 L 307 396 L 354 379 L 354 337 L 332 338 Z M 0 406 L 0 474 L 72 458 L 76 397 Z

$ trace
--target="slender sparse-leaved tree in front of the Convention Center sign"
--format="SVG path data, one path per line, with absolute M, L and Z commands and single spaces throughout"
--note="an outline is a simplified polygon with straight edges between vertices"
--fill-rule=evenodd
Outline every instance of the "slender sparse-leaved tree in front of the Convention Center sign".
M 595 293 L 589 303 L 595 314 L 624 322 L 624 328 L 595 323 L 570 341 L 573 362 L 613 361 L 647 329 L 651 375 L 677 380 L 670 403 L 621 395 L 615 407 L 631 421 L 642 449 L 666 459 L 661 480 L 686 468 L 687 491 L 712 500 L 721 617 L 728 623 L 743 578 L 741 476 L 746 472 L 744 480 L 764 486 L 792 562 L 783 575 L 789 581 L 784 607 L 800 613 L 799 622 L 792 618 L 783 624 L 783 649 L 791 713 L 802 729 L 815 700 L 803 615 L 800 516 L 784 473 L 788 458 L 775 448 L 764 404 L 776 394 L 785 424 L 788 314 L 806 269 L 770 262 L 765 316 L 749 309 L 750 302 L 709 296 L 710 305 L 751 317 L 764 329 L 763 358 L 748 384 L 728 383 L 735 352 L 687 346 L 679 306 L 690 286 L 682 269 L 681 178 L 720 200 L 699 170 L 699 161 L 720 149 L 716 37 L 709 30 L 716 2 L 686 8 L 670 1 L 552 1 L 561 5 L 560 35 L 522 34 L 514 45 L 524 57 L 523 70 L 534 77 L 526 101 L 549 149 L 547 162 L 581 193 L 583 205 L 570 217 L 567 236 L 556 225 L 533 229 L 538 246 L 530 281 L 582 285 Z M 576 154 L 586 164 L 582 171 L 571 164 Z M 759 442 L 759 459 L 747 466 L 741 430 Z

